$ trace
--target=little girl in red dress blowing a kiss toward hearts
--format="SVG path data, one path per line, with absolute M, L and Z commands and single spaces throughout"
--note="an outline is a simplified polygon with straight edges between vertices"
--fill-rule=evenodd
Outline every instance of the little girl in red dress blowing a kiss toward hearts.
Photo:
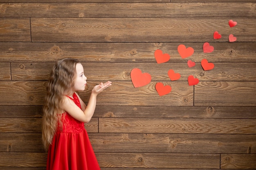
M 97 95 L 111 82 L 94 86 L 86 106 L 76 93 L 85 90 L 83 72 L 78 60 L 66 58 L 56 62 L 50 74 L 42 130 L 48 150 L 46 170 L 100 170 L 84 122 L 91 120 Z

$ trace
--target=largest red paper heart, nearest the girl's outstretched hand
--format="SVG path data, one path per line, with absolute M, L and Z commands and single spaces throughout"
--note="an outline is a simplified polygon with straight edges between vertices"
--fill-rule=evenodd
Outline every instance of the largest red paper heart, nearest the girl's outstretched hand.
M 139 68 L 133 68 L 130 75 L 135 88 L 145 86 L 151 81 L 151 75 L 149 73 L 142 73 Z

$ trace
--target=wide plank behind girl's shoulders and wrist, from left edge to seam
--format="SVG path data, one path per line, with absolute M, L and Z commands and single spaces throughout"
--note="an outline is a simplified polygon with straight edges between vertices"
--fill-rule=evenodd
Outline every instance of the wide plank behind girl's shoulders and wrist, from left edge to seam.
M 43 105 L 45 81 L 0 81 L 2 106 Z M 187 82 L 163 82 L 170 84 L 173 93 L 159 96 L 155 90 L 156 82 L 141 88 L 134 88 L 129 82 L 112 82 L 112 86 L 97 96 L 98 106 L 193 106 L 193 86 Z M 88 103 L 92 88 L 99 82 L 88 82 L 86 90 L 79 96 Z

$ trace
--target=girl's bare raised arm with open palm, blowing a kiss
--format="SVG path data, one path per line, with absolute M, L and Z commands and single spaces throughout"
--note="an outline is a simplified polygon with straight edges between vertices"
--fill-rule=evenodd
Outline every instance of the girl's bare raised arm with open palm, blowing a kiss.
M 107 87 L 111 86 L 111 83 L 112 82 L 108 81 L 105 84 L 101 83 L 97 86 L 94 86 L 87 106 L 83 106 L 85 107 L 84 111 L 81 110 L 78 106 L 76 106 L 76 104 L 68 97 L 64 97 L 64 102 L 62 106 L 63 110 L 67 111 L 67 113 L 69 113 L 75 119 L 88 123 L 94 114 L 97 95 Z

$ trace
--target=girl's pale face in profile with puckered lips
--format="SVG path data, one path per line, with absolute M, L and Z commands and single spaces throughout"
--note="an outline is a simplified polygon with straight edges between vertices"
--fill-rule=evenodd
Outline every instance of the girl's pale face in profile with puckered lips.
M 74 83 L 74 91 L 84 91 L 86 86 L 86 79 L 83 73 L 83 66 L 82 64 L 76 64 L 76 78 Z

